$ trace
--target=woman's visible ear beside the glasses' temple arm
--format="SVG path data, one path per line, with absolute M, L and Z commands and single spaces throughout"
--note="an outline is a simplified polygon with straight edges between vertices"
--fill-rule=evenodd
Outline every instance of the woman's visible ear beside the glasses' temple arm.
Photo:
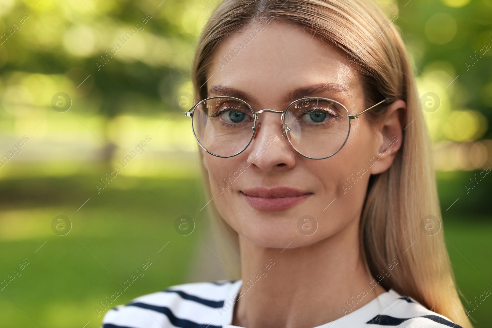
M 406 117 L 406 103 L 399 99 L 393 102 L 385 118 L 375 127 L 375 132 L 379 135 L 377 143 L 377 157 L 379 160 L 371 166 L 370 173 L 382 173 L 391 166 L 395 155 L 401 147 L 403 124 Z

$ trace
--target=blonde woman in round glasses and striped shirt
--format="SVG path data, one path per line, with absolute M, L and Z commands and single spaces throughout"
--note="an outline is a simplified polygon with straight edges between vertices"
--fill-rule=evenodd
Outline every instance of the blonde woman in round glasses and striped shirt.
M 396 27 L 367 0 L 225 0 L 187 112 L 232 281 L 109 311 L 103 327 L 472 327 Z

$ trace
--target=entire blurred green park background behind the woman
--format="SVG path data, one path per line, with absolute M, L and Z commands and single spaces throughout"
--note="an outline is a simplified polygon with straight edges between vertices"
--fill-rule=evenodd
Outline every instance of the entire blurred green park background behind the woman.
M 492 291 L 492 1 L 380 3 L 416 67 L 446 245 L 471 311 L 468 301 Z M 192 54 L 216 5 L 0 0 L 0 279 L 29 261 L 0 291 L 1 327 L 99 327 L 94 308 L 147 259 L 113 305 L 225 277 L 181 113 L 194 102 Z M 64 236 L 52 231 L 58 215 L 71 221 Z M 175 230 L 180 215 L 193 218 L 190 235 Z M 486 298 L 475 327 L 492 326 L 491 310 Z

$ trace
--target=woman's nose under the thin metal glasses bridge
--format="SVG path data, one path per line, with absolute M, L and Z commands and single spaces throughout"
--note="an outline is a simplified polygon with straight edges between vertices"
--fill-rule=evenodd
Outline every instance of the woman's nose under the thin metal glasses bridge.
M 282 120 L 277 113 L 263 114 L 248 149 L 248 164 L 262 171 L 288 170 L 296 164 L 294 149 L 283 134 Z

